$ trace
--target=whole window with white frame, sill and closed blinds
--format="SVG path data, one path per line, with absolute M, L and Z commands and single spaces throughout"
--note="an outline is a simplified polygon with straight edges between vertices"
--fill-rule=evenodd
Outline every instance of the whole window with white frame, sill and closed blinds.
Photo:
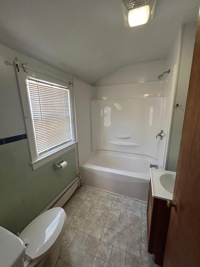
M 23 64 L 19 72 L 31 164 L 36 169 L 74 148 L 73 87 L 64 78 L 24 70 Z

